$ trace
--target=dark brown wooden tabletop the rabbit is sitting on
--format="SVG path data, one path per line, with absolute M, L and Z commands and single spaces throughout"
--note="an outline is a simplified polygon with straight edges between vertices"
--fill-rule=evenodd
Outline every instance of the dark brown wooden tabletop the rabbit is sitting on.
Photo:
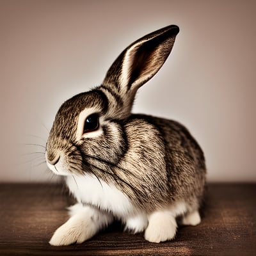
M 0 255 L 256 255 L 256 184 L 209 184 L 202 223 L 153 244 L 120 223 L 90 241 L 53 247 L 70 203 L 56 184 L 0 184 Z

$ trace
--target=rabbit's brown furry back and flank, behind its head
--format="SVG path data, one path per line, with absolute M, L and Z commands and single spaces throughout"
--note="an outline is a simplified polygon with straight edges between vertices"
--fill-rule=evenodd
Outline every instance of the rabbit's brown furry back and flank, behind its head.
M 188 129 L 173 120 L 131 115 L 125 132 L 128 151 L 120 164 L 129 168 L 130 182 L 142 191 L 145 204 L 155 202 L 159 207 L 186 200 L 198 207 L 204 193 L 205 159 Z

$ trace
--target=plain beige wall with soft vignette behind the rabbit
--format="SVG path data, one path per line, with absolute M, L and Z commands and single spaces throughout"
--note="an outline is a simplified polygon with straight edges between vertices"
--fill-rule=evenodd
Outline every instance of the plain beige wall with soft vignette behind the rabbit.
M 255 1 L 0 1 L 0 181 L 49 181 L 44 148 L 60 104 L 99 85 L 131 42 L 180 33 L 134 112 L 179 120 L 211 181 L 256 181 Z M 48 131 L 47 131 L 48 130 Z

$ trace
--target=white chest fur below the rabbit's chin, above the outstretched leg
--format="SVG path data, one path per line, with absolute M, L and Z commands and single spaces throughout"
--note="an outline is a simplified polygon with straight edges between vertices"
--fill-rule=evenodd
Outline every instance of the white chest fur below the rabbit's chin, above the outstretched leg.
M 67 186 L 77 202 L 92 204 L 114 216 L 125 218 L 136 212 L 134 206 L 121 191 L 92 175 L 68 176 Z

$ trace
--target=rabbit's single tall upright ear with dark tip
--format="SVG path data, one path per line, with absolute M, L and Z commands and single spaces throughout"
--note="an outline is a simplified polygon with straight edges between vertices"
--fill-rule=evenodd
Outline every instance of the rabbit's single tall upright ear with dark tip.
M 145 35 L 111 65 L 101 87 L 115 98 L 111 107 L 115 105 L 120 116 L 129 115 L 136 91 L 162 67 L 178 33 L 179 27 L 171 25 Z

